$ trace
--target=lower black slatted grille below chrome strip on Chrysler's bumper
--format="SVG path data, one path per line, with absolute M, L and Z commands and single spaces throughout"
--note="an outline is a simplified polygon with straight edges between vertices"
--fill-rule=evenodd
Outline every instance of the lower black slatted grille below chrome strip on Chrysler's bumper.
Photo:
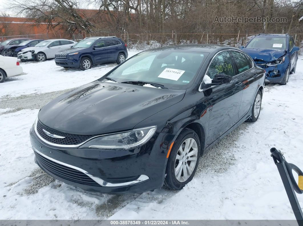
M 37 152 L 35 152 L 35 155 L 38 163 L 42 166 L 42 168 L 53 174 L 55 177 L 57 176 L 73 183 L 79 183 L 88 186 L 101 186 L 92 178 L 88 177 L 85 173 L 82 173 L 79 170 L 75 170 L 73 168 L 56 163 L 52 160 L 49 160 L 48 158 L 45 158 Z

